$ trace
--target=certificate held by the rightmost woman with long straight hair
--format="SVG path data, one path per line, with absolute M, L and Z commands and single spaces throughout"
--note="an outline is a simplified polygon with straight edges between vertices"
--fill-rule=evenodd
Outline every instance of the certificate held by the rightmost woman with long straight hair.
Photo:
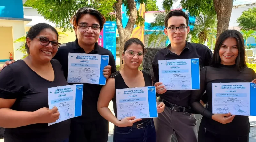
M 250 109 L 252 108 L 252 109 Z M 256 84 L 212 83 L 212 113 L 256 116 Z

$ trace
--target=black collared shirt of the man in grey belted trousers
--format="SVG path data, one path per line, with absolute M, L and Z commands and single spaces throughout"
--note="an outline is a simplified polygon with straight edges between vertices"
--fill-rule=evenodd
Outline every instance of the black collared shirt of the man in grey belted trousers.
M 171 44 L 164 49 L 160 49 L 158 52 L 156 52 L 153 58 L 150 74 L 154 83 L 159 82 L 158 60 L 199 58 L 201 70 L 203 67 L 208 66 L 212 59 L 212 51 L 202 44 L 189 43 L 186 41 L 186 46 L 180 55 L 172 53 L 169 50 L 170 47 Z M 191 90 L 167 90 L 167 92 L 159 96 L 172 104 L 186 107 L 189 106 L 190 95 Z

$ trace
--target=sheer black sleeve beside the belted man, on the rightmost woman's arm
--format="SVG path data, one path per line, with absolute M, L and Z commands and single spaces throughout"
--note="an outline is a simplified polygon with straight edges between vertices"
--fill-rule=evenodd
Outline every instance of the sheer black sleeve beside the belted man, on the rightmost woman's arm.
M 200 71 L 200 90 L 192 91 L 191 99 L 190 99 L 190 103 L 191 103 L 190 106 L 197 113 L 199 113 L 205 117 L 212 118 L 213 114 L 209 110 L 204 108 L 200 103 L 200 99 L 206 90 L 206 71 L 207 71 L 207 67 L 204 67 Z M 204 95 L 207 95 L 207 94 L 204 94 Z

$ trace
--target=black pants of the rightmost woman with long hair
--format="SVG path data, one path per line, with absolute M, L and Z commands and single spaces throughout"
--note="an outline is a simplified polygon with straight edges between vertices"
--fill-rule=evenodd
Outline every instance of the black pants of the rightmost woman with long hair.
M 198 138 L 198 142 L 249 142 L 249 134 L 247 136 L 219 135 L 202 123 L 199 127 Z

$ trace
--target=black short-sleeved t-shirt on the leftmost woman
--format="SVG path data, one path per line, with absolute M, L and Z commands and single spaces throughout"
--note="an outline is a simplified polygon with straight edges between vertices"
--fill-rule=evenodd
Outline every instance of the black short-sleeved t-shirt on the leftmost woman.
M 8 65 L 0 72 L 0 98 L 16 99 L 11 107 L 17 111 L 36 111 L 48 106 L 48 88 L 68 85 L 57 60 L 51 60 L 54 81 L 34 72 L 23 60 Z M 1 116 L 0 116 L 1 117 Z M 5 142 L 58 142 L 69 137 L 70 120 L 48 126 L 33 124 L 5 129 Z

